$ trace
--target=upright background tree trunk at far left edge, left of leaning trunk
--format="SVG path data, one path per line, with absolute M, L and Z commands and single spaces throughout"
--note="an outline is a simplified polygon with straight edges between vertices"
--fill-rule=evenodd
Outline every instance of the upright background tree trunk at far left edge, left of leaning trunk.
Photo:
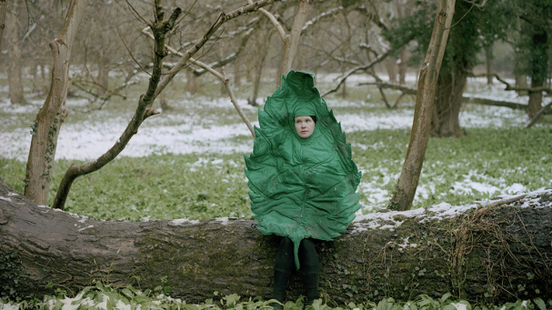
M 19 37 L 19 25 L 17 24 L 17 2 L 12 7 L 12 14 L 7 16 L 7 82 L 9 87 L 9 97 L 12 105 L 25 105 L 25 96 L 23 95 L 22 81 L 22 58 Z

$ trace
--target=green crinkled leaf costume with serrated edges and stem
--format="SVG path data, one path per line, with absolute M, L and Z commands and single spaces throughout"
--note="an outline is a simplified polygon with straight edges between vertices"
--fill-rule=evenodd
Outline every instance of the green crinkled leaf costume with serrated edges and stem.
M 251 211 L 265 235 L 294 242 L 296 267 L 303 238 L 332 240 L 346 229 L 360 208 L 356 187 L 360 172 L 351 145 L 326 101 L 315 76 L 290 71 L 282 86 L 259 109 L 253 153 L 246 156 Z M 312 135 L 296 133 L 295 116 L 316 116 Z

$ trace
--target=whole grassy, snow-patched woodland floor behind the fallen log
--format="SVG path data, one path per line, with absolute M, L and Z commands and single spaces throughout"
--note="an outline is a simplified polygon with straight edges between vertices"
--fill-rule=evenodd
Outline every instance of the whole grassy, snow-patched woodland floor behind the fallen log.
M 408 77 L 407 83 L 414 86 L 416 76 Z M 320 75 L 316 86 L 324 93 L 335 85 L 335 78 Z M 77 181 L 68 210 L 117 219 L 171 219 L 183 214 L 190 219 L 249 217 L 243 155 L 251 152 L 253 139 L 229 98 L 221 95 L 220 84 L 207 77 L 202 81 L 204 86 L 194 95 L 184 91 L 180 81 L 167 88 L 165 99 L 171 109 L 147 119 L 112 164 Z M 359 215 L 386 207 L 393 193 L 406 155 L 415 100 L 409 95 L 388 109 L 376 88 L 357 85 L 366 81 L 369 78 L 363 75 L 353 76 L 345 98 L 341 92 L 325 98 L 363 173 Z M 5 80 L 0 76 L 0 177 L 21 192 L 30 125 L 45 95 L 27 95 L 30 105 L 10 105 L 7 86 L 2 85 Z M 241 95 L 239 104 L 248 118 L 258 125 L 257 108 L 246 104 L 250 88 L 243 84 L 235 92 Z M 94 160 L 115 144 L 144 89 L 144 83 L 132 86 L 126 90 L 129 99 L 114 97 L 102 109 L 85 98 L 67 98 L 69 115 L 59 135 L 52 191 L 68 165 Z M 274 89 L 274 81 L 265 81 L 257 102 L 262 104 Z M 527 96 L 503 89 L 498 83 L 485 85 L 482 78 L 469 79 L 465 94 L 527 103 Z M 386 91 L 389 102 L 398 95 Z M 552 99 L 545 100 L 546 104 Z M 546 115 L 530 129 L 523 129 L 526 123 L 522 110 L 463 105 L 460 125 L 467 135 L 430 139 L 414 207 L 469 204 L 552 185 L 551 117 Z M 156 194 L 145 191 L 151 186 L 159 189 Z M 124 206 L 113 211 L 109 205 Z

